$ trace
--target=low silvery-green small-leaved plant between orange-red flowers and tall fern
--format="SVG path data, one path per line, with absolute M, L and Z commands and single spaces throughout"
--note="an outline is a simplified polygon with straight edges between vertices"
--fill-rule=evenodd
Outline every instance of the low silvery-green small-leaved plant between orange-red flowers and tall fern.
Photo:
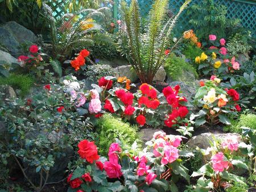
M 92 81 L 98 81 L 101 77 L 114 75 L 114 69 L 110 65 L 104 64 L 88 65 L 88 70 L 85 72 L 86 78 Z

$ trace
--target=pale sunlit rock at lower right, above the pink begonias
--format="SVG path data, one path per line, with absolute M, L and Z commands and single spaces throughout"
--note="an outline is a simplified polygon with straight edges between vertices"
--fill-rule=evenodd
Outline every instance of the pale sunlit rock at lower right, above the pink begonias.
M 224 141 L 228 137 L 237 136 L 238 143 L 241 143 L 241 135 L 238 133 L 202 133 L 201 135 L 193 136 L 191 139 L 188 140 L 187 145 L 190 148 L 196 148 L 199 147 L 201 149 L 207 149 L 210 147 L 209 141 L 213 141 L 213 136 L 217 140 Z

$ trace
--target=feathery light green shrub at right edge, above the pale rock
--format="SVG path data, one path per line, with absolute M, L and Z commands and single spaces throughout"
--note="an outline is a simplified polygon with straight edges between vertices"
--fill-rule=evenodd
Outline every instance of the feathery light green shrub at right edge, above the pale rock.
M 232 120 L 231 126 L 225 126 L 225 132 L 242 133 L 241 127 L 249 127 L 256 130 L 256 115 L 255 114 L 242 114 L 239 120 Z

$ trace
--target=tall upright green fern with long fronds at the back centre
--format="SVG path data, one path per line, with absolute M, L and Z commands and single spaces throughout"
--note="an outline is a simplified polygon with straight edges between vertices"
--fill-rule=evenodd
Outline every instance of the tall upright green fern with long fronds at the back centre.
M 122 44 L 128 45 L 130 51 L 126 52 L 126 57 L 142 82 L 151 84 L 155 73 L 164 64 L 164 51 L 170 47 L 171 31 L 189 2 L 190 0 L 185 1 L 177 15 L 167 18 L 168 0 L 155 1 L 148 18 L 146 34 L 141 34 L 141 16 L 137 0 L 133 0 L 130 7 L 127 7 L 125 1 L 121 3 L 125 24 L 121 27 L 121 41 Z

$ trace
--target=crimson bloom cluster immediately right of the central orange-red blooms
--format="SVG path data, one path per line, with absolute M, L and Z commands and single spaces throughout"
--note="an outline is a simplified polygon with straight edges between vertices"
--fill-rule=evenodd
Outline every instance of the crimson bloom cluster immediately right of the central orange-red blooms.
M 174 89 L 168 86 L 163 89 L 163 94 L 166 97 L 167 102 L 172 106 L 172 113 L 168 114 L 168 118 L 164 121 L 164 124 L 167 127 L 172 127 L 177 123 L 177 118 L 184 118 L 188 114 L 188 108 L 186 106 L 182 106 L 179 102 L 185 101 L 187 99 L 184 97 L 179 97 L 177 95 L 179 93 L 180 86 L 176 85 Z

